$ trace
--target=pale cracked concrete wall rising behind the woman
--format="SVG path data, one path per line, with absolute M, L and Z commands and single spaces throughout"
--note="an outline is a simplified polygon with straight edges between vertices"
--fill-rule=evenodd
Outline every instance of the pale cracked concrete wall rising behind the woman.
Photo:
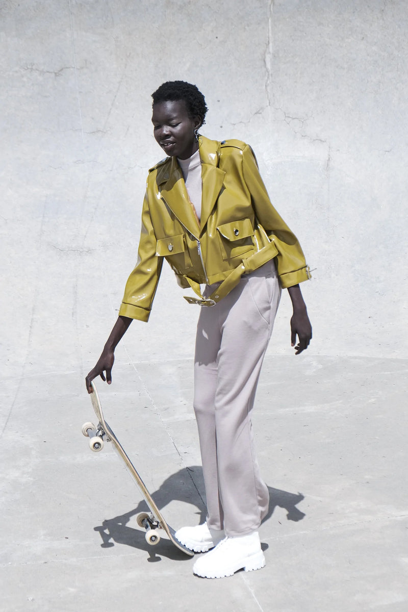
M 206 95 L 202 133 L 253 146 L 316 268 L 308 352 L 406 356 L 407 31 L 404 0 L 1 1 L 6 376 L 94 365 L 163 157 L 150 93 L 176 78 Z M 191 357 L 167 267 L 117 359 Z M 286 296 L 270 351 L 291 352 Z

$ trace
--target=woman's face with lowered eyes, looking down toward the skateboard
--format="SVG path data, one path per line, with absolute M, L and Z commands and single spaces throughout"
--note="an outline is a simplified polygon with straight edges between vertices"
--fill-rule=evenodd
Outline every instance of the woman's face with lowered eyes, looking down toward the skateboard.
M 168 100 L 153 106 L 154 137 L 169 157 L 188 159 L 198 149 L 194 130 L 199 117 L 190 119 L 184 100 Z

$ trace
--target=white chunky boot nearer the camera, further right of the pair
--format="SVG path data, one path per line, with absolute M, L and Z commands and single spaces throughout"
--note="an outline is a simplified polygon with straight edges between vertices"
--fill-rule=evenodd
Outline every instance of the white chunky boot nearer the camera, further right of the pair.
M 193 572 L 202 578 L 224 578 L 240 569 L 259 570 L 265 565 L 258 531 L 248 535 L 226 537 L 210 553 L 193 565 Z

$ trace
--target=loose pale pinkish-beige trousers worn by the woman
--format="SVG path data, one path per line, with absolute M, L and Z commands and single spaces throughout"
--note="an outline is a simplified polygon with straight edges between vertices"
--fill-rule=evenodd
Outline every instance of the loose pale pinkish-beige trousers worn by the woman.
M 204 296 L 217 285 L 206 288 Z M 211 308 L 201 308 L 194 409 L 207 497 L 207 524 L 227 535 L 256 531 L 269 491 L 254 453 L 251 410 L 281 289 L 269 261 Z

